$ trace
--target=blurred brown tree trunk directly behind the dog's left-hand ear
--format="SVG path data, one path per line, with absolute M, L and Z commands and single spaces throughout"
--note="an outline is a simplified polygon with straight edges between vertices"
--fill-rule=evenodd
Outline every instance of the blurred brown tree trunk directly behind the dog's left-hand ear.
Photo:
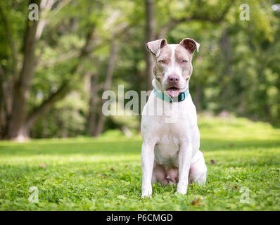
M 155 39 L 155 10 L 154 10 L 154 1 L 145 0 L 146 6 L 146 42 L 153 41 Z M 153 89 L 152 80 L 153 80 L 153 56 L 146 50 L 145 51 L 145 60 L 146 60 L 146 91 Z

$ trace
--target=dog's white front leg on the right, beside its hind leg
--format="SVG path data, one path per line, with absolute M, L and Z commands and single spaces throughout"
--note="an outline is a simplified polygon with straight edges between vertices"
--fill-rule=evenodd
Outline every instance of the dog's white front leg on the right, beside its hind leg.
M 189 137 L 181 141 L 178 155 L 179 181 L 177 192 L 182 193 L 183 195 L 186 194 L 186 189 L 188 188 L 192 150 L 192 143 Z

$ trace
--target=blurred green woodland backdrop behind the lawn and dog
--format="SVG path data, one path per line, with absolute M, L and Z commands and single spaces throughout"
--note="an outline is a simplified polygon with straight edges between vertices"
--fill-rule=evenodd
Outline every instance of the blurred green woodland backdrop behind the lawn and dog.
M 160 38 L 201 44 L 190 81 L 198 114 L 278 127 L 279 18 L 280 1 L 0 0 L 0 139 L 138 133 L 141 117 L 105 117 L 101 96 L 151 90 L 145 44 Z

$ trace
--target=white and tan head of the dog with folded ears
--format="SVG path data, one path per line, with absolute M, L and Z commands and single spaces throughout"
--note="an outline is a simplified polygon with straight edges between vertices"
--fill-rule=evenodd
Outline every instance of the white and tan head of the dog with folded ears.
M 189 38 L 183 39 L 180 44 L 167 44 L 166 39 L 158 39 L 148 42 L 146 47 L 155 60 L 155 85 L 172 97 L 185 91 L 193 72 L 193 52 L 198 51 L 199 44 Z

